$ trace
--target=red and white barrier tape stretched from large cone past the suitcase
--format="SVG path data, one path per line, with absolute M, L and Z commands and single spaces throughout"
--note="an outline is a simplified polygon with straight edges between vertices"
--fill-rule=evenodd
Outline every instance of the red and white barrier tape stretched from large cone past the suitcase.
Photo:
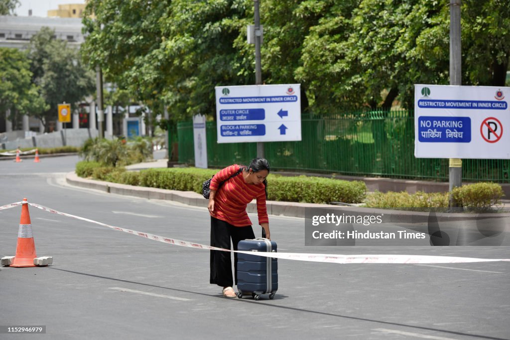
M 8 205 L 0 206 L 0 210 L 9 209 L 15 207 L 17 205 L 22 204 L 23 202 L 11 203 Z M 509 258 L 475 258 L 475 257 L 453 257 L 453 256 L 429 256 L 429 255 L 392 255 L 392 254 L 376 254 L 376 255 L 340 255 L 340 254 L 307 254 L 307 253 L 267 253 L 267 252 L 251 252 L 251 251 L 239 251 L 239 250 L 230 250 L 217 248 L 212 246 L 207 246 L 199 243 L 193 243 L 188 241 L 182 241 L 172 238 L 166 238 L 163 236 L 158 236 L 154 234 L 150 234 L 147 232 L 140 232 L 136 230 L 120 228 L 113 225 L 109 225 L 106 223 L 97 222 L 94 220 L 90 220 L 88 218 L 75 216 L 71 214 L 62 213 L 56 211 L 54 209 L 45 207 L 36 203 L 28 203 L 40 210 L 58 214 L 62 216 L 67 216 L 70 218 L 82 220 L 85 222 L 95 223 L 98 225 L 102 225 L 111 229 L 127 232 L 130 234 L 134 234 L 136 236 L 141 236 L 146 239 L 173 244 L 176 246 L 190 247 L 190 248 L 199 248 L 199 249 L 208 249 L 208 250 L 221 250 L 221 251 L 230 251 L 237 253 L 244 253 L 250 255 L 257 255 L 263 257 L 274 257 L 274 258 L 283 258 L 289 260 L 298 260 L 298 261 L 311 261 L 311 262 L 326 262 L 326 263 L 337 263 L 337 264 L 442 264 L 442 263 L 474 263 L 474 262 L 495 262 L 495 261 L 510 261 Z

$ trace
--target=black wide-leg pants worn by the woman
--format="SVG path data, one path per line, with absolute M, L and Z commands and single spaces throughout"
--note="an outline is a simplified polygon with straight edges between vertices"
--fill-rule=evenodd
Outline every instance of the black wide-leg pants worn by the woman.
M 237 244 L 242 240 L 253 240 L 255 234 L 251 225 L 236 227 L 225 221 L 211 216 L 211 246 L 231 249 L 230 240 L 237 250 Z M 234 253 L 234 275 L 237 284 L 237 253 Z M 211 250 L 211 279 L 210 283 L 221 287 L 232 287 L 232 256 L 228 251 Z

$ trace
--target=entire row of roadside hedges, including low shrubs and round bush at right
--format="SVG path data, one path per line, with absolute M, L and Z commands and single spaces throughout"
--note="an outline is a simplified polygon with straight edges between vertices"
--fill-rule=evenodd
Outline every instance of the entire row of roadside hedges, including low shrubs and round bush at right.
M 105 167 L 97 162 L 78 162 L 76 173 L 81 177 L 106 180 L 120 184 L 160 189 L 194 191 L 201 194 L 202 183 L 218 170 L 198 168 L 158 168 L 126 171 L 125 168 Z M 278 174 L 268 176 L 268 199 L 308 203 L 361 203 L 374 208 L 446 208 L 449 193 L 375 192 L 367 197 L 363 181 L 346 181 L 322 177 Z M 453 197 L 471 210 L 483 210 L 499 203 L 503 190 L 499 184 L 476 183 L 455 188 Z

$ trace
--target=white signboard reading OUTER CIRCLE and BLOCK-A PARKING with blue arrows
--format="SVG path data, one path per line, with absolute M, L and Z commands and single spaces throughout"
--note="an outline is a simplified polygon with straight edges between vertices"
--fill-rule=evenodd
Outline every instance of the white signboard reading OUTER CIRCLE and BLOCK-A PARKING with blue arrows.
M 299 87 L 217 86 L 218 143 L 300 141 Z

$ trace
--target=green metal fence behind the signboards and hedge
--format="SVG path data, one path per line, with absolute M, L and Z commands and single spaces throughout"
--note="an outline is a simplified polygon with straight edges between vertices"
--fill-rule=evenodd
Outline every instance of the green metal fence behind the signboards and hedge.
M 210 167 L 246 164 L 256 143 L 216 142 L 216 122 L 207 122 Z M 194 164 L 192 122 L 177 124 L 179 162 Z M 303 115 L 300 142 L 264 143 L 271 168 L 354 176 L 448 180 L 447 159 L 414 156 L 412 111 Z M 463 160 L 463 180 L 510 182 L 510 160 Z

